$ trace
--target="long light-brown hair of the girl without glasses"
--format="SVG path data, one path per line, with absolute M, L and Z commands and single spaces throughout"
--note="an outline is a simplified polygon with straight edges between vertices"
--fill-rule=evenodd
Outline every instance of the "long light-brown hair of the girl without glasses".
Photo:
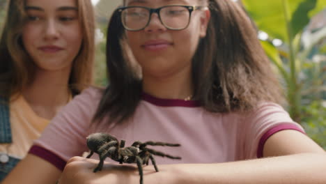
M 20 93 L 33 81 L 35 65 L 22 44 L 26 0 L 9 0 L 0 37 L 0 95 Z M 91 0 L 76 0 L 83 40 L 70 73 L 72 93 L 80 93 L 93 81 L 95 18 Z

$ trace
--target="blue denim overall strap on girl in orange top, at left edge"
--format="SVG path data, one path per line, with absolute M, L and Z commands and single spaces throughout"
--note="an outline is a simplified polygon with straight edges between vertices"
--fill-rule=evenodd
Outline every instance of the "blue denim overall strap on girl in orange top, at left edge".
M 0 144 L 12 142 L 9 114 L 9 100 L 0 97 Z

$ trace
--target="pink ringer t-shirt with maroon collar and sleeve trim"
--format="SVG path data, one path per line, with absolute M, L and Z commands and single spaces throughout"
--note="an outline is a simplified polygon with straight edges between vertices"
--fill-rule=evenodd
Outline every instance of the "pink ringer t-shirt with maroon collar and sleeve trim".
M 262 157 L 265 141 L 281 130 L 304 132 L 274 103 L 261 104 L 247 114 L 212 113 L 196 101 L 160 99 L 147 94 L 143 94 L 134 116 L 127 122 L 91 128 L 101 96 L 102 91 L 95 88 L 77 95 L 47 126 L 29 153 L 62 170 L 69 158 L 88 151 L 86 137 L 89 134 L 107 132 L 117 139 L 125 139 L 125 146 L 134 141 L 181 144 L 180 147 L 152 146 L 182 158 L 171 160 L 155 156 L 158 164 L 218 163 Z M 104 118 L 102 123 L 106 121 Z

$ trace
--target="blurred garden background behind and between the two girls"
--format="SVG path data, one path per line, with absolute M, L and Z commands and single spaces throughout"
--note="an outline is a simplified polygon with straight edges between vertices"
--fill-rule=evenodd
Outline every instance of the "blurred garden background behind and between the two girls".
M 326 0 L 229 0 L 244 8 L 284 86 L 290 116 L 326 149 Z M 6 3 L 0 0 L 0 31 Z M 95 79 L 109 83 L 105 40 L 109 18 L 121 0 L 92 0 L 96 14 Z M 0 56 L 1 61 L 1 56 Z

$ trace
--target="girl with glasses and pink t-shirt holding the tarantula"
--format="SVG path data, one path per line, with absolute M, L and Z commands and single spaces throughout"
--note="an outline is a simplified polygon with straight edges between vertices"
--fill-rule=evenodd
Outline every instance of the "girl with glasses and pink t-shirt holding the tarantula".
M 326 182 L 325 151 L 277 105 L 277 77 L 240 7 L 229 0 L 124 5 L 107 34 L 108 88 L 87 89 L 65 107 L 5 184 L 18 175 L 24 183 L 139 183 L 134 165 L 106 162 L 94 174 L 98 160 L 71 158 L 87 151 L 93 132 L 126 146 L 181 144 L 155 147 L 182 160 L 155 157 L 160 171 L 143 167 L 144 183 Z

